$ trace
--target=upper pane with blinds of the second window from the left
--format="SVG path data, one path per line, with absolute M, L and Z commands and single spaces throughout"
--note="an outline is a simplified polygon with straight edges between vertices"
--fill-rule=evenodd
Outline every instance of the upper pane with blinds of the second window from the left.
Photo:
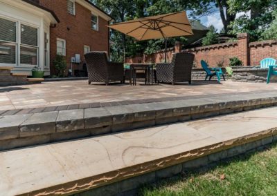
M 37 46 L 37 28 L 21 25 L 21 43 Z

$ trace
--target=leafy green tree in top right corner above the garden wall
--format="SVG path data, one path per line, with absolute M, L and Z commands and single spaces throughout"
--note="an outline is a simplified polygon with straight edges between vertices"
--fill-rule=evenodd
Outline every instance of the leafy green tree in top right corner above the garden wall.
M 251 41 L 257 41 L 274 19 L 276 0 L 228 0 L 229 12 L 244 12 L 230 24 L 231 34 L 247 32 Z

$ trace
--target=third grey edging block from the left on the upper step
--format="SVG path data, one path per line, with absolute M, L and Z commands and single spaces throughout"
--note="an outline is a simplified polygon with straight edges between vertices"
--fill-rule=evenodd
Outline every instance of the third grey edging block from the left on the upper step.
M 57 132 L 84 129 L 84 110 L 62 110 L 57 115 Z

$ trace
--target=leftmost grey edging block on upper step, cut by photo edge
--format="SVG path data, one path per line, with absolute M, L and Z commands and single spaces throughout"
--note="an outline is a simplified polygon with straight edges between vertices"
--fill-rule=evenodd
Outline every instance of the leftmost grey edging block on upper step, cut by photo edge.
M 31 115 L 12 115 L 0 117 L 0 140 L 19 137 L 19 125 Z

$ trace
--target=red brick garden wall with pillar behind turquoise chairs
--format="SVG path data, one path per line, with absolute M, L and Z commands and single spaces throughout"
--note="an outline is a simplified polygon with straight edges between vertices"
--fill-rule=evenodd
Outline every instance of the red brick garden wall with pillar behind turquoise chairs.
M 172 58 L 172 54 L 176 48 L 172 48 L 168 52 L 168 59 Z M 224 66 L 229 66 L 231 57 L 238 57 L 244 63 L 244 66 L 258 66 L 260 61 L 267 57 L 277 59 L 277 41 L 257 41 L 249 43 L 246 34 L 238 35 L 238 41 L 231 43 L 220 43 L 211 46 L 191 48 L 184 50 L 195 54 L 195 66 L 201 68 L 200 61 L 204 59 L 211 67 L 216 67 L 217 63 L 224 61 Z M 179 52 L 179 51 L 176 51 Z M 153 55 L 144 55 L 143 57 L 129 58 L 129 63 L 156 62 L 159 63 L 164 59 L 164 52 L 157 52 Z

